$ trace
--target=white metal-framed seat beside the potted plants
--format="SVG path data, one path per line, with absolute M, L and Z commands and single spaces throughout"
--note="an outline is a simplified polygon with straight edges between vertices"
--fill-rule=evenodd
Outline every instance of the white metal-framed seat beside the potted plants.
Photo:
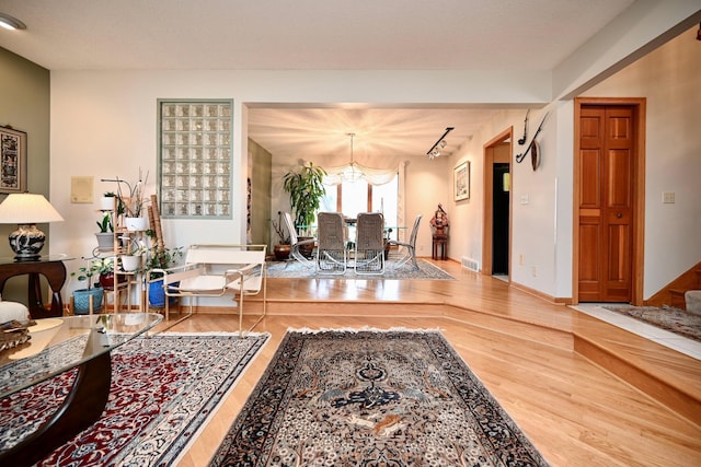
M 263 293 L 263 313 L 246 330 L 251 331 L 265 317 L 266 312 L 266 245 L 192 245 L 185 253 L 185 264 L 169 269 L 152 269 L 147 282 L 154 273 L 163 276 L 165 292 L 165 319 L 170 318 L 169 297 L 187 297 L 188 314 L 193 315 L 194 301 L 198 297 L 222 296 L 232 293 L 239 308 L 239 335 L 243 336 L 243 297 Z

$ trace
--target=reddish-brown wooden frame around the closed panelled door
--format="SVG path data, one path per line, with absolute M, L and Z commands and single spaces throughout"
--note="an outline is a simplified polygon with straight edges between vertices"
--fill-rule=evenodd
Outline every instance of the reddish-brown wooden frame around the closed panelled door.
M 633 107 L 635 128 L 635 154 L 633 162 L 633 253 L 631 258 L 631 304 L 643 305 L 645 277 L 645 97 L 575 97 L 574 100 L 574 178 L 572 187 L 572 303 L 579 303 L 579 118 L 582 107 L 588 105 Z

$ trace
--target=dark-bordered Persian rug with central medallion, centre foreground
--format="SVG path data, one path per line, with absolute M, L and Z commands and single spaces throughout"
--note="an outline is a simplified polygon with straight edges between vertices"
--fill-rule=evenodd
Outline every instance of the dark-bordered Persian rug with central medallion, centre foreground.
M 547 466 L 438 331 L 289 331 L 210 466 Z

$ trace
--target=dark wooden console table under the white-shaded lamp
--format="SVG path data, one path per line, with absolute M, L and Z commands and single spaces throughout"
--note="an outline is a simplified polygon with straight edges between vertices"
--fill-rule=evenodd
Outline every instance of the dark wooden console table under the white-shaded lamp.
M 58 317 L 64 315 L 61 288 L 66 282 L 66 265 L 64 256 L 43 256 L 35 261 L 18 261 L 14 258 L 0 258 L 0 293 L 8 279 L 15 276 L 28 275 L 27 307 L 34 319 Z M 51 306 L 42 303 L 42 284 L 39 275 L 44 276 L 51 289 Z

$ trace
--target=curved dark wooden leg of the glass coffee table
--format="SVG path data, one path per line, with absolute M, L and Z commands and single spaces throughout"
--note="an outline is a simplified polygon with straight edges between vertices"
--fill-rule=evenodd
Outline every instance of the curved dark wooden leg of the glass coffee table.
M 107 404 L 111 383 L 110 352 L 80 365 L 73 386 L 61 407 L 38 430 L 0 454 L 0 465 L 34 465 L 92 425 Z

